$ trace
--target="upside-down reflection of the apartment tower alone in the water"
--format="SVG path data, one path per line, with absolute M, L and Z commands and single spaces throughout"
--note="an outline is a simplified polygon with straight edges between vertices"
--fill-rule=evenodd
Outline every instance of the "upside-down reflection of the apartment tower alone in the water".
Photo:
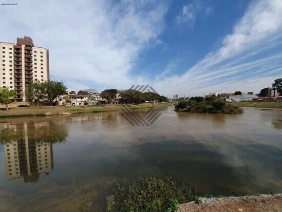
M 36 125 L 44 126 L 49 123 L 31 123 L 32 130 Z M 29 124 L 30 125 L 30 124 Z M 53 169 L 52 143 L 37 142 L 29 139 L 27 123 L 9 125 L 5 142 L 4 155 L 7 179 L 24 178 L 25 182 L 37 182 L 41 173 Z

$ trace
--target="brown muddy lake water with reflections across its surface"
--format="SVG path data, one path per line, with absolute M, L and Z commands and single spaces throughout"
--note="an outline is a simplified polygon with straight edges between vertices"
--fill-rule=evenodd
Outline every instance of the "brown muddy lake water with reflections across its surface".
M 115 183 L 137 174 L 171 176 L 198 195 L 282 192 L 282 110 L 244 110 L 169 107 L 150 126 L 120 112 L 2 119 L 0 211 L 105 211 Z

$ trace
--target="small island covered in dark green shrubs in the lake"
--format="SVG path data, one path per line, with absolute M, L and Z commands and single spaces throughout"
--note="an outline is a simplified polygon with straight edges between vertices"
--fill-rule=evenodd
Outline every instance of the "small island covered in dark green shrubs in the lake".
M 242 113 L 239 106 L 226 105 L 223 99 L 217 97 L 202 98 L 195 97 L 189 101 L 181 101 L 175 106 L 175 111 L 196 113 Z

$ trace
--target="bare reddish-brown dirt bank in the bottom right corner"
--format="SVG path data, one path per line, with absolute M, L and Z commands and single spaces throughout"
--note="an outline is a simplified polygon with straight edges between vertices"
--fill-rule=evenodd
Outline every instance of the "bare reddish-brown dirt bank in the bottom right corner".
M 189 202 L 179 206 L 179 212 L 256 212 L 282 211 L 282 194 L 225 198 L 200 198 L 202 203 Z

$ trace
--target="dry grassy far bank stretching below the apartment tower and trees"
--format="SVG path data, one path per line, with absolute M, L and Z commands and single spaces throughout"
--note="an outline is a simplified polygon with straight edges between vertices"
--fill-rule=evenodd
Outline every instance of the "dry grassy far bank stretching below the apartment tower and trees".
M 165 108 L 171 103 L 144 103 L 131 105 L 131 109 L 145 109 L 150 107 Z M 85 112 L 106 112 L 121 110 L 121 105 L 93 105 L 93 106 L 50 106 L 50 107 L 22 107 L 10 108 L 8 111 L 0 110 L 0 118 L 44 116 L 46 112 L 56 115 L 61 112 L 85 113 Z

